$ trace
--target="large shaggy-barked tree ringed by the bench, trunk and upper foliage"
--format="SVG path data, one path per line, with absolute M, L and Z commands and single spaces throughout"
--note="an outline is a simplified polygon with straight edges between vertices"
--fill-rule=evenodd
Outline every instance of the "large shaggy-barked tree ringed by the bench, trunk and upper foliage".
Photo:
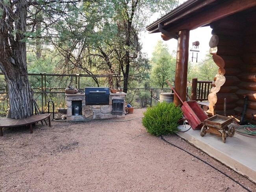
M 29 37 L 41 34 L 35 29 L 44 28 L 63 17 L 65 9 L 79 0 L 67 2 L 48 0 L 0 1 L 0 70 L 3 72 L 10 102 L 9 117 L 19 119 L 32 115 L 32 94 L 28 82 L 26 42 Z M 63 5 L 65 4 L 65 5 Z M 40 12 L 48 15 L 44 26 L 36 26 Z M 40 16 L 40 17 L 39 17 Z M 52 31 L 54 34 L 55 31 Z M 40 57 L 40 53 L 38 53 Z

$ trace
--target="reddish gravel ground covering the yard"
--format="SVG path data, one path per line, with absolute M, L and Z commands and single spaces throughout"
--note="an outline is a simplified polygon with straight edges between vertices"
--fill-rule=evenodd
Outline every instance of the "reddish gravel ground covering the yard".
M 54 122 L 4 129 L 0 192 L 246 192 L 188 153 L 145 133 L 145 109 L 124 122 Z M 113 119 L 117 120 L 117 119 Z M 256 192 L 256 185 L 178 137 L 164 137 Z

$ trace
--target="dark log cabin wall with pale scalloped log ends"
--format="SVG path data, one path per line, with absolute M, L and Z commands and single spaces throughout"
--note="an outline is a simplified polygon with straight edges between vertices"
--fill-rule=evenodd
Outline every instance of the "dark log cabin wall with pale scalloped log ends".
M 210 24 L 210 54 L 219 70 L 208 96 L 208 114 L 241 114 L 249 97 L 246 118 L 256 119 L 256 12 L 238 13 Z

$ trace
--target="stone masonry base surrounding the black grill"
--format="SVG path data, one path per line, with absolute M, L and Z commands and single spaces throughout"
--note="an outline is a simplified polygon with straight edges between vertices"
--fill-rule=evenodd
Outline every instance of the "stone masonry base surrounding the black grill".
M 69 121 L 121 118 L 126 114 L 124 92 L 110 93 L 108 105 L 86 105 L 85 94 L 82 93 L 65 94 L 65 96 Z

